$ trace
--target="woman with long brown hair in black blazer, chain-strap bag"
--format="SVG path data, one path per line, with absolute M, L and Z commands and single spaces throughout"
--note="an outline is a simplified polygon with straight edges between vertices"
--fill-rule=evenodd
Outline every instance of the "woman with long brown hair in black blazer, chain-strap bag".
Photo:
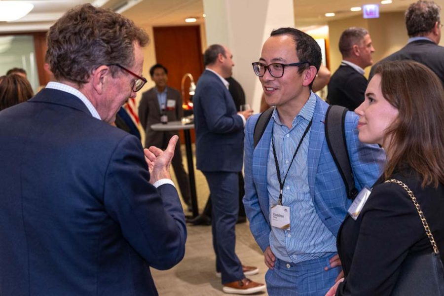
M 367 201 L 362 199 L 362 209 L 352 205 L 339 229 L 337 247 L 345 278 L 327 296 L 392 295 L 403 263 L 433 252 L 418 211 L 399 181 L 416 197 L 444 259 L 443 85 L 422 64 L 386 62 L 376 68 L 365 101 L 355 112 L 360 117 L 359 140 L 381 145 L 387 163 L 368 189 Z M 393 179 L 398 182 L 386 182 Z M 430 290 L 409 293 L 431 295 Z

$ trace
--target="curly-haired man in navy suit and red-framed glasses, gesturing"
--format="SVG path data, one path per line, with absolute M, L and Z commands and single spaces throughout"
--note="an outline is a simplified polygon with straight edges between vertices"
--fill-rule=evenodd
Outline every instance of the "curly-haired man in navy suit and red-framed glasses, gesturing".
M 148 36 L 85 4 L 47 41 L 56 81 L 0 112 L 0 295 L 157 295 L 148 266 L 185 253 L 169 175 L 178 138 L 144 155 L 110 124 L 146 82 Z

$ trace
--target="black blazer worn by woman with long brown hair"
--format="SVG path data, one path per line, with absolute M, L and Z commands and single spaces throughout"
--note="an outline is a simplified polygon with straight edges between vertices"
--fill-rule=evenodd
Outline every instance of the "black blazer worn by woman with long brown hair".
M 444 255 L 444 186 L 421 188 L 414 173 L 395 174 L 414 193 Z M 432 252 L 432 247 L 407 192 L 397 184 L 378 180 L 354 221 L 349 215 L 341 225 L 337 248 L 345 273 L 336 296 L 390 295 L 400 266 L 409 253 Z

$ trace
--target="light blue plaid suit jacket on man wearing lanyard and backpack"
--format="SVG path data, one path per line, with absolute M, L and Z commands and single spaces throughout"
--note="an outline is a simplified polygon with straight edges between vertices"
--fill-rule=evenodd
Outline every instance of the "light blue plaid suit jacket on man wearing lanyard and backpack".
M 308 183 L 316 213 L 336 236 L 351 201 L 346 198 L 345 185 L 325 139 L 324 122 L 328 106 L 317 97 L 309 138 Z M 253 236 L 264 251 L 270 244 L 267 160 L 273 124 L 271 120 L 268 122 L 257 147 L 253 148 L 253 133 L 258 118 L 259 114 L 251 116 L 245 126 L 244 205 Z M 371 186 L 377 180 L 385 162 L 385 153 L 377 145 L 359 142 L 357 121 L 356 114 L 347 112 L 345 139 L 355 185 L 360 190 L 364 185 Z

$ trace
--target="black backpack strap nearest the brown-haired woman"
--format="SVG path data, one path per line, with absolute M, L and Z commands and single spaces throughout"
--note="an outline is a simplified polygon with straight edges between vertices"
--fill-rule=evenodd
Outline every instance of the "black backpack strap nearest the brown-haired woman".
M 355 187 L 345 140 L 345 114 L 347 111 L 347 108 L 341 106 L 329 107 L 325 115 L 325 137 L 334 163 L 344 181 L 347 197 L 354 199 L 358 194 L 358 189 Z

